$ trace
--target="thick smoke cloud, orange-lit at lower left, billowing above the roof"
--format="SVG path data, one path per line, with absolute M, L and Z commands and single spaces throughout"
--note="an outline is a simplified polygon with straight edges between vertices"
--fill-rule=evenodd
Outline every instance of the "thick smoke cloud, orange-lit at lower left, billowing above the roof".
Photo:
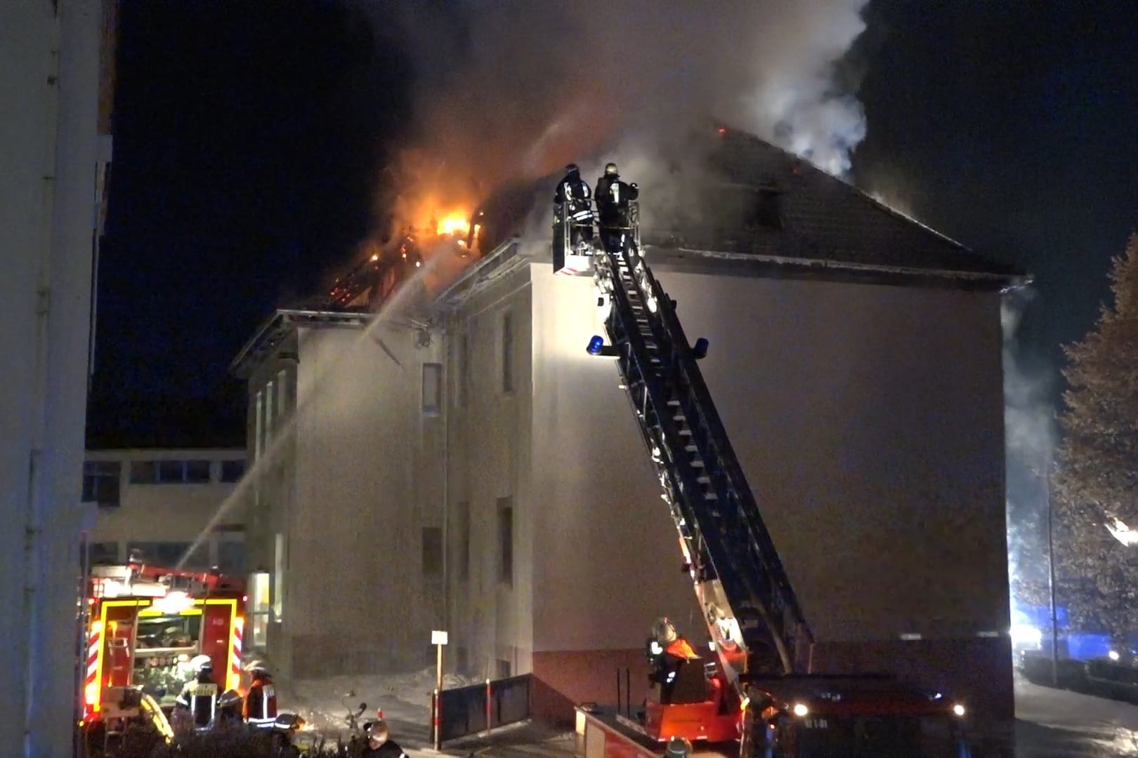
M 843 174 L 865 118 L 834 65 L 866 2 L 369 3 L 418 76 L 401 215 L 447 213 L 569 160 L 682 161 L 668 151 L 711 117 Z

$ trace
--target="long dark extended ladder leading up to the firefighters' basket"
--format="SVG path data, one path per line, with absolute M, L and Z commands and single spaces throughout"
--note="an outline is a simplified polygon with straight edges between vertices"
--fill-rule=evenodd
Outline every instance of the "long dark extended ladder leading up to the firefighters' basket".
M 617 359 L 728 681 L 801 672 L 813 636 L 696 365 L 707 341 L 688 344 L 644 261 L 635 206 L 620 232 L 593 256 L 611 344 L 589 351 Z

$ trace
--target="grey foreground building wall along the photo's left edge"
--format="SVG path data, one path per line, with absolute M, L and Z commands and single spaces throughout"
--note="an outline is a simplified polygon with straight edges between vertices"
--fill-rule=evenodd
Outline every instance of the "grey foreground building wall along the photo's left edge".
M 69 755 L 98 0 L 0 3 L 0 734 Z

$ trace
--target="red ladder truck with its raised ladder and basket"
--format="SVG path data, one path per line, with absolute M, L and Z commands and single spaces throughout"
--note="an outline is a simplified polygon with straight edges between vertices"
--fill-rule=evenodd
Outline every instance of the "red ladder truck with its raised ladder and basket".
M 652 275 L 638 203 L 622 223 L 574 243 L 588 235 L 555 206 L 554 272 L 593 277 L 609 341 L 587 351 L 616 359 L 717 655 L 655 677 L 635 717 L 578 707 L 579 755 L 970 755 L 963 705 L 887 676 L 814 673 L 813 633 L 696 363 L 708 341 L 688 343 Z

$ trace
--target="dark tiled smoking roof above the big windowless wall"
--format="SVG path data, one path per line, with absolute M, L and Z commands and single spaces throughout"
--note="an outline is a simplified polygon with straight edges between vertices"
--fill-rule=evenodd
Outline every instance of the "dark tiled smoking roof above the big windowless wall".
M 695 180 L 674 175 L 698 190 L 682 203 L 688 213 L 653 208 L 652 186 L 641 185 L 642 242 L 665 258 L 731 261 L 775 277 L 997 290 L 1031 281 L 753 134 L 711 128 L 688 147 L 709 168 Z M 558 178 L 502 188 L 488 199 L 486 231 L 494 233 L 485 235 L 481 252 L 518 234 L 534 203 L 552 198 Z

